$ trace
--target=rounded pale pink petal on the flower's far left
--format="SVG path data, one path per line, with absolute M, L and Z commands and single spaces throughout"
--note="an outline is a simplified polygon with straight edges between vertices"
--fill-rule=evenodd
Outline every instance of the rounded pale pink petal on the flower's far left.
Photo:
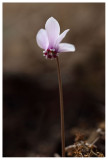
M 40 29 L 36 36 L 37 44 L 40 48 L 46 50 L 49 46 L 48 36 L 45 29 Z

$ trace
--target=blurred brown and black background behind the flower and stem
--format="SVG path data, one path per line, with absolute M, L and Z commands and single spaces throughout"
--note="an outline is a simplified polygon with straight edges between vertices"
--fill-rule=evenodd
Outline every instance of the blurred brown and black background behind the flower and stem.
M 66 146 L 75 131 L 91 134 L 105 119 L 105 4 L 3 3 L 3 156 L 61 153 L 55 60 L 46 60 L 36 34 L 58 20 L 63 42 L 76 47 L 59 56 Z

